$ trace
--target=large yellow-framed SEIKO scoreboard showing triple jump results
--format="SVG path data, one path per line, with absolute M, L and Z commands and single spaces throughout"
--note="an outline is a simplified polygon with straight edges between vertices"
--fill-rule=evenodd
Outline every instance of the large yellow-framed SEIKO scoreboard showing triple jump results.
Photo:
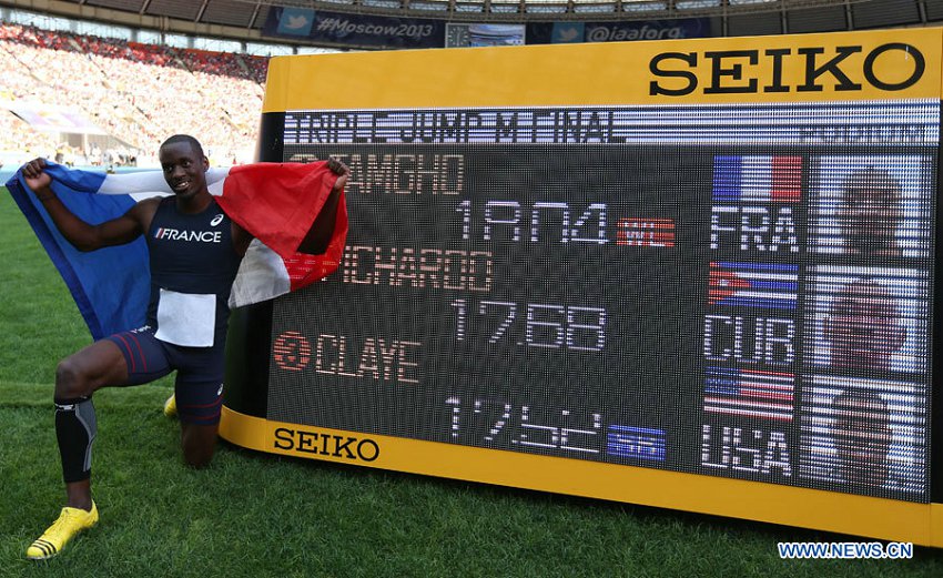
M 260 160 L 342 159 L 349 234 L 235 313 L 222 435 L 943 546 L 941 47 L 273 59 Z

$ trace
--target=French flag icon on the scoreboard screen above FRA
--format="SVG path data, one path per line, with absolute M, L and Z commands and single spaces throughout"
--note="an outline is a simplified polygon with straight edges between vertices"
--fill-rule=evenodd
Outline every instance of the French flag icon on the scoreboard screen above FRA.
M 714 156 L 716 203 L 798 203 L 801 156 Z

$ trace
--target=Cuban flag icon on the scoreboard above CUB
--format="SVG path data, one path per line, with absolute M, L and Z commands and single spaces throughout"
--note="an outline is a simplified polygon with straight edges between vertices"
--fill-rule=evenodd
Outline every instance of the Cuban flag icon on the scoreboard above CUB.
M 708 305 L 795 310 L 799 265 L 712 262 Z

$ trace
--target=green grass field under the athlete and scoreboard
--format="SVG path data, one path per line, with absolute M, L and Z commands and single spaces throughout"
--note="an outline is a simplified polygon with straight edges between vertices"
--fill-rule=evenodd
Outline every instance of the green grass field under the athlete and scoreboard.
M 781 560 L 779 541 L 859 540 L 320 462 L 221 444 L 182 463 L 170 381 L 95 395 L 98 527 L 47 562 L 27 546 L 64 497 L 55 362 L 90 343 L 48 257 L 0 189 L 0 577 L 940 577 L 911 560 Z M 869 540 L 870 541 L 870 540 Z

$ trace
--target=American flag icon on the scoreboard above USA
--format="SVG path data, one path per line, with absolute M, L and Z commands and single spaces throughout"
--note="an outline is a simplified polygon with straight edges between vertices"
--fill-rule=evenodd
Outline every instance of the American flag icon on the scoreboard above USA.
M 704 369 L 704 412 L 792 422 L 795 376 L 737 367 Z

